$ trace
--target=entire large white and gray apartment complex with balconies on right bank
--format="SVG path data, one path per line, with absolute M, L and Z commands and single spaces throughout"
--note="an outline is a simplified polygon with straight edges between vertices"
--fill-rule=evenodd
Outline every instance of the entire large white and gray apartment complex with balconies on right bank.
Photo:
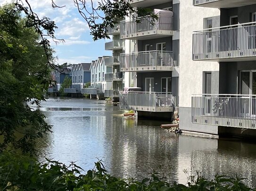
M 139 23 L 125 18 L 108 31 L 113 35 L 105 46 L 113 51 L 108 64 L 124 74 L 120 108 L 136 110 L 139 117 L 171 119 L 179 105 L 182 130 L 252 136 L 256 1 L 129 2 L 150 8 L 159 19 L 151 25 L 150 17 Z

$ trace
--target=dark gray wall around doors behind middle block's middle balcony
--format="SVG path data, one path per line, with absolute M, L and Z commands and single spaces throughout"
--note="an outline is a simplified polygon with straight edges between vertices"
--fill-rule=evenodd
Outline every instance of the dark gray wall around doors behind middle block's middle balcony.
M 138 52 L 145 51 L 145 46 L 150 45 L 149 51 L 157 50 L 157 43 L 166 43 L 166 51 L 172 51 L 173 50 L 173 43 L 171 37 L 166 38 L 155 38 L 155 39 L 149 39 L 149 40 L 138 40 Z

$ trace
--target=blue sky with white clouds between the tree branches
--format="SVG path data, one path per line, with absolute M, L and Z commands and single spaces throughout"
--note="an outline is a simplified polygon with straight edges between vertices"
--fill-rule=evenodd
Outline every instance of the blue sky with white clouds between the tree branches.
M 97 5 L 98 0 L 93 1 Z M 6 2 L 11 2 L 11 0 L 0 0 L 1 5 Z M 90 29 L 78 13 L 73 0 L 54 1 L 58 6 L 65 6 L 64 8 L 52 8 L 51 0 L 28 0 L 28 2 L 40 18 L 46 16 L 55 21 L 58 26 L 55 30 L 55 37 L 65 40 L 64 43 L 58 43 L 58 45 L 51 42 L 51 46 L 56 51 L 55 56 L 58 57 L 58 64 L 91 62 L 100 56 L 111 55 L 111 51 L 105 51 L 104 39 L 92 40 Z

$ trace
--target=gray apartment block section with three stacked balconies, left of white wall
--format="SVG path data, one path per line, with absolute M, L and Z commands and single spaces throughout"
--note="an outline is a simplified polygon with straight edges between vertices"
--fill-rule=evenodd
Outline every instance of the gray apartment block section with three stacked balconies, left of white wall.
M 120 108 L 136 110 L 139 117 L 171 120 L 179 92 L 179 3 L 130 0 L 130 4 L 149 8 L 159 18 L 153 21 L 150 16 L 138 17 L 139 23 L 127 18 L 120 22 L 120 38 L 125 40 L 120 71 L 134 79 L 130 80 L 133 84 L 125 80 Z

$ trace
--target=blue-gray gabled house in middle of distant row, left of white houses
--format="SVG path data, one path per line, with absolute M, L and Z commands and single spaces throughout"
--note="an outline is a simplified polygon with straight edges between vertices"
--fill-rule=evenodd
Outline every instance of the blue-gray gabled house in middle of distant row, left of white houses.
M 64 88 L 65 93 L 81 94 L 81 89 L 83 86 L 91 82 L 91 63 L 79 63 L 74 64 L 71 74 L 72 74 L 72 85 L 70 88 Z

